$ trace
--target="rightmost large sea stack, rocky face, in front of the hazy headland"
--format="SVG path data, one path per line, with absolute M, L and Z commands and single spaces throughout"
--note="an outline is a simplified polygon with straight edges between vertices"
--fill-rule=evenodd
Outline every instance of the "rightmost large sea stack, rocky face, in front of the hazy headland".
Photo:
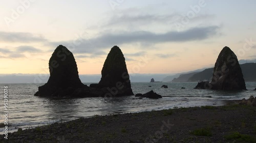
M 215 63 L 211 82 L 200 82 L 200 84 L 199 87 L 211 90 L 246 90 L 237 56 L 229 47 L 221 50 Z

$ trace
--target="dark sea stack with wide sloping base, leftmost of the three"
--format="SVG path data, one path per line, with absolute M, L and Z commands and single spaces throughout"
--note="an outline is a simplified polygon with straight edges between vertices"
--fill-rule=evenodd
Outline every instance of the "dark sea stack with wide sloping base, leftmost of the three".
M 50 78 L 38 88 L 35 96 L 69 96 L 74 90 L 84 88 L 78 76 L 77 65 L 71 51 L 59 45 L 49 60 Z

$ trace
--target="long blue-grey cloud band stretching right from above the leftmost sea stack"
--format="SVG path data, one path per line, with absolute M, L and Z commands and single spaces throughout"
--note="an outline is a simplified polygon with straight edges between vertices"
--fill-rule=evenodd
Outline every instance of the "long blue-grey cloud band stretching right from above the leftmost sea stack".
M 163 42 L 200 41 L 217 35 L 219 30 L 219 26 L 207 26 L 194 27 L 183 32 L 169 31 L 160 34 L 147 31 L 116 32 L 104 33 L 91 39 L 80 39 L 81 42 L 76 44 L 77 46 L 73 44 L 73 41 L 51 42 L 50 44 L 52 47 L 62 44 L 74 53 L 95 53 L 122 44 L 146 43 L 154 45 Z

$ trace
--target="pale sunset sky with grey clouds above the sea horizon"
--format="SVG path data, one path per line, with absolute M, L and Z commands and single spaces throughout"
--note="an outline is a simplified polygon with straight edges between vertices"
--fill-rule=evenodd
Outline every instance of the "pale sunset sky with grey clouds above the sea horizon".
M 58 45 L 79 74 L 100 74 L 110 49 L 129 73 L 179 73 L 213 67 L 228 46 L 256 59 L 256 1 L 0 0 L 0 74 L 49 74 Z

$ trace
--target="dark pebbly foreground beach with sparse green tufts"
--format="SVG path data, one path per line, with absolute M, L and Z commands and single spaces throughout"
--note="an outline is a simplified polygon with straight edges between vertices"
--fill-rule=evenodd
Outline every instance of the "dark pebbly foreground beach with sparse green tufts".
M 94 116 L 0 135 L 0 142 L 255 143 L 256 107 L 229 103 Z

